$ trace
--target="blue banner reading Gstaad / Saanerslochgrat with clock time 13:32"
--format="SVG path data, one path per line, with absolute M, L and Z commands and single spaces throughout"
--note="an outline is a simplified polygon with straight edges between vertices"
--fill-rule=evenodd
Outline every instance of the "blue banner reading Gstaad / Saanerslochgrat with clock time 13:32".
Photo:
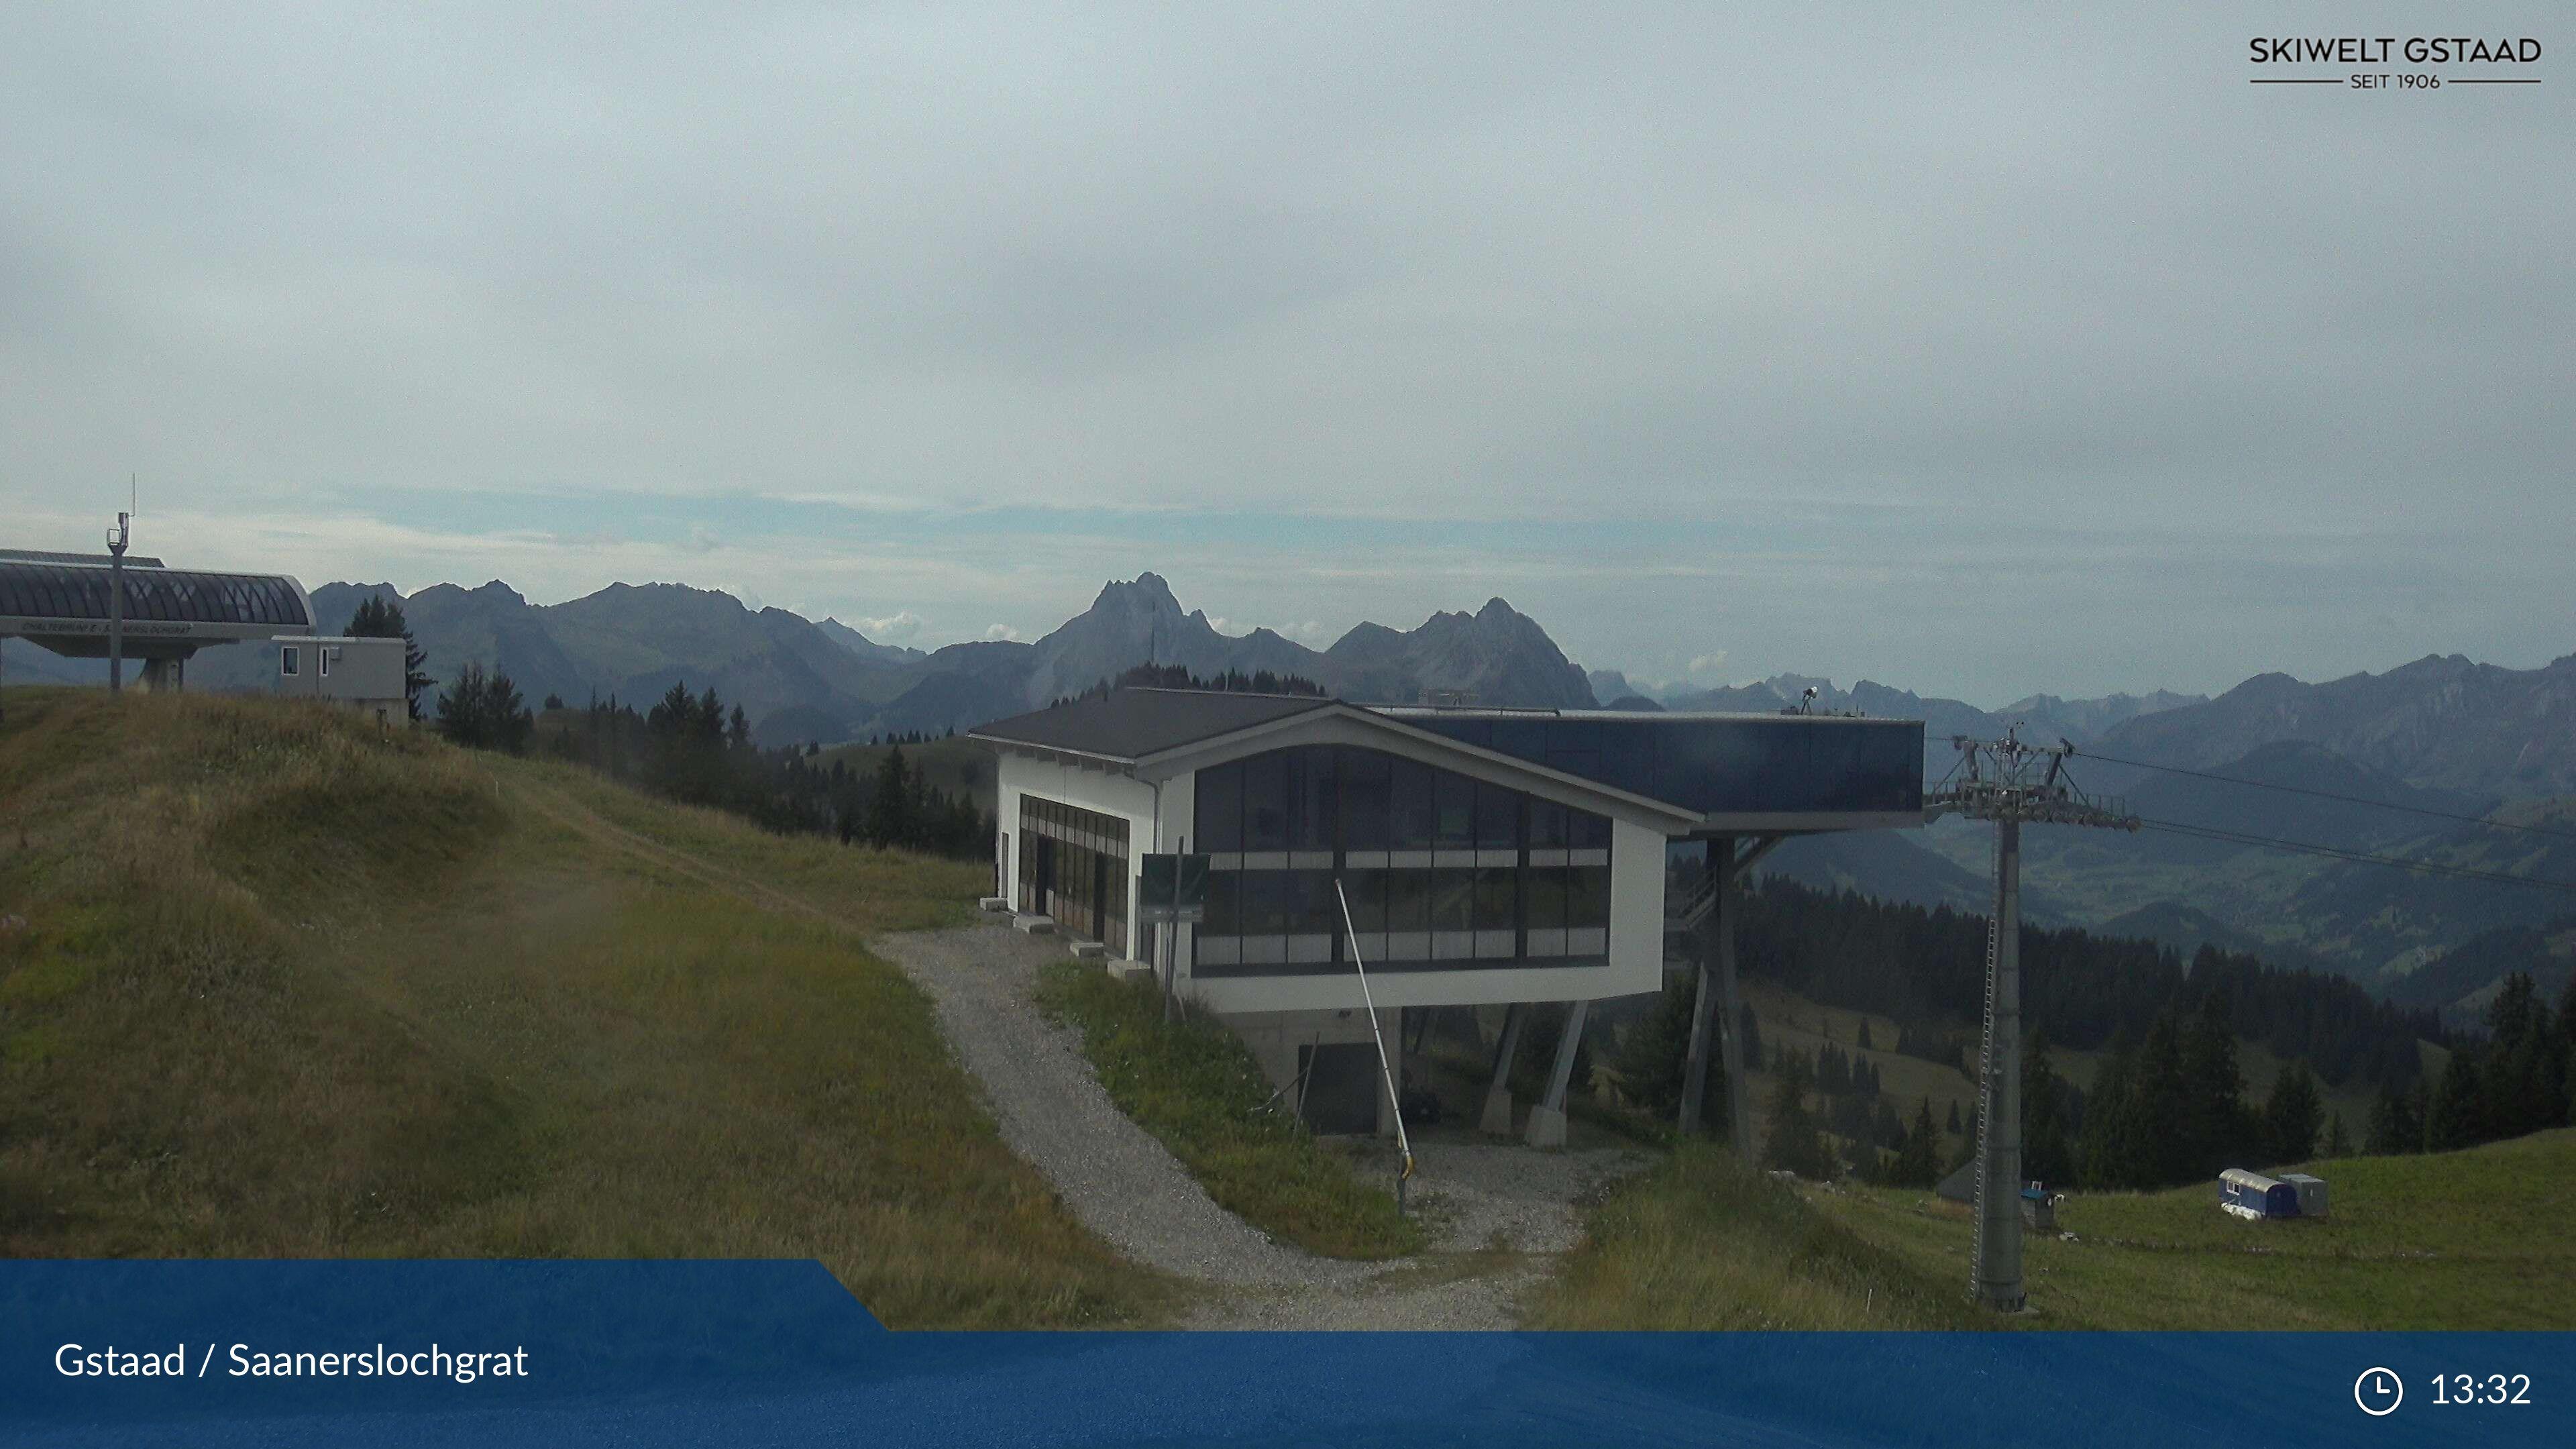
M 10 1444 L 2566 1444 L 2568 1395 L 2563 1333 L 886 1333 L 817 1263 L 0 1263 Z

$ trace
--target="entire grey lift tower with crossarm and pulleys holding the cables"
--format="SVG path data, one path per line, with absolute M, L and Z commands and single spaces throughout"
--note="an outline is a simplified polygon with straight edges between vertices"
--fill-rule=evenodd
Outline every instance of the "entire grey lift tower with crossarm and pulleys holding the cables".
M 1976 1266 L 1971 1292 L 2002 1312 L 2022 1307 L 2022 822 L 2136 830 L 2115 799 L 2066 779 L 2076 748 L 2032 748 L 2020 724 L 2002 740 L 1953 735 L 1960 763 L 1924 797 L 1942 815 L 1994 820 L 1994 915 L 1986 920 L 1986 1057 L 1976 1083 Z

